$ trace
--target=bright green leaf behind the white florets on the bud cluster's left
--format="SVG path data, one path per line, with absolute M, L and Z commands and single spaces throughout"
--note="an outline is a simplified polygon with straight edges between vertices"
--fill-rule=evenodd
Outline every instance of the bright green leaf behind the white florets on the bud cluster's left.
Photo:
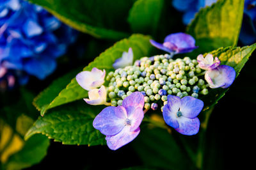
M 143 56 L 148 56 L 148 54 L 150 54 L 150 50 L 153 49 L 152 45 L 150 45 L 149 43 L 149 40 L 149 36 L 143 35 L 132 35 L 128 39 L 125 38 L 124 40 L 115 43 L 113 47 L 110 47 L 105 52 L 102 52 L 99 57 L 95 58 L 95 60 L 88 66 L 86 66 L 83 70 L 91 71 L 93 67 L 97 67 L 100 70 L 105 69 L 108 73 L 114 70 L 112 66 L 114 61 L 122 56 L 122 52 L 128 51 L 129 47 L 132 47 L 134 60 L 139 59 Z M 54 88 L 56 86 L 58 86 L 58 83 L 56 83 L 56 85 L 54 86 L 51 86 L 51 88 Z M 86 98 L 87 96 L 87 91 L 81 88 L 81 86 L 77 84 L 76 79 L 74 78 L 67 85 L 67 87 L 59 93 L 58 96 L 54 94 L 54 97 L 53 95 L 51 95 L 50 98 L 38 97 L 34 104 L 40 110 L 41 115 L 43 116 L 45 111 L 47 111 L 48 109 L 51 109 L 58 105 L 67 104 L 68 102 L 73 102 L 81 98 Z M 52 98 L 54 99 L 52 100 Z M 46 100 L 47 102 L 45 102 Z

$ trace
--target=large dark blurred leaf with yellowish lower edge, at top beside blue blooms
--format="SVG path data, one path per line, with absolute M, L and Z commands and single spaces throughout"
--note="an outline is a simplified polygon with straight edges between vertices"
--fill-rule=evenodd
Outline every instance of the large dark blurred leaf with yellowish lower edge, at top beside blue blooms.
M 62 22 L 97 38 L 119 40 L 129 36 L 126 18 L 133 0 L 29 0 Z

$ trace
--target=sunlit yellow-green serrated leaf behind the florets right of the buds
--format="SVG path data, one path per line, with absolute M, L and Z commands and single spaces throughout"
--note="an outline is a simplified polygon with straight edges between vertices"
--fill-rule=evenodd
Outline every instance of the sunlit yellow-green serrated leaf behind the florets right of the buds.
M 252 52 L 256 49 L 256 43 L 246 47 L 221 47 L 218 50 L 210 52 L 213 57 L 218 57 L 221 61 L 221 65 L 232 66 L 236 70 L 236 77 L 243 68 L 246 61 L 252 55 Z M 206 55 L 206 54 L 204 54 Z M 201 99 L 204 101 L 204 111 L 218 103 L 221 97 L 223 97 L 228 89 L 218 88 L 211 89 L 209 94 Z

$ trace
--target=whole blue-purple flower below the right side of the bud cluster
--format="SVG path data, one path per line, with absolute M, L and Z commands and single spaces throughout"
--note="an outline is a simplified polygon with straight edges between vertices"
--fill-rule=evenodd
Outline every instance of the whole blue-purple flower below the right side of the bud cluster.
M 196 116 L 202 111 L 204 102 L 194 97 L 179 98 L 168 95 L 168 104 L 164 105 L 163 118 L 170 127 L 184 135 L 198 133 L 200 121 Z

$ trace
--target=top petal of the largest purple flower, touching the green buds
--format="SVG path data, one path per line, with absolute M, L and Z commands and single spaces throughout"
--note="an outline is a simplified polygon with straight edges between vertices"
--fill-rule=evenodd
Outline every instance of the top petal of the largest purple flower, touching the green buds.
M 129 106 L 132 107 L 140 107 L 143 108 L 144 107 L 144 96 L 139 92 L 133 92 L 131 93 L 131 95 L 129 95 L 129 97 L 125 97 L 122 103 L 123 107 L 125 107 L 125 109 L 127 109 Z M 130 116 L 129 114 L 127 115 L 128 117 Z

